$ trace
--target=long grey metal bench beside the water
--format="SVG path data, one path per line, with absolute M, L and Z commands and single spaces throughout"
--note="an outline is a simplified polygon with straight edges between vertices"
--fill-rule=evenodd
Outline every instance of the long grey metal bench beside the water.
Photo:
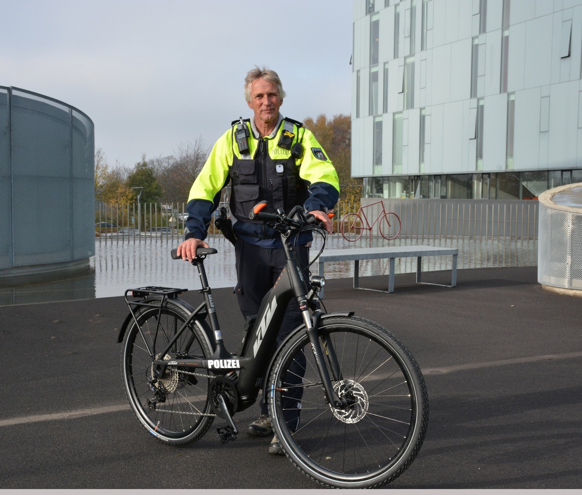
M 416 282 L 430 285 L 438 285 L 442 287 L 455 287 L 457 284 L 457 255 L 459 250 L 453 248 L 441 248 L 435 246 L 394 246 L 394 247 L 378 247 L 378 248 L 355 248 L 355 249 L 335 249 L 324 251 L 318 259 L 319 275 L 324 275 L 325 263 L 331 261 L 353 261 L 354 262 L 354 289 L 375 290 L 379 292 L 394 292 L 394 261 L 396 258 L 417 258 L 416 266 Z M 450 286 L 448 284 L 435 284 L 423 282 L 421 280 L 423 256 L 452 256 L 452 276 Z M 390 272 L 388 291 L 381 289 L 369 289 L 367 287 L 360 287 L 360 259 L 390 259 Z M 321 289 L 320 297 L 324 297 L 324 290 Z

